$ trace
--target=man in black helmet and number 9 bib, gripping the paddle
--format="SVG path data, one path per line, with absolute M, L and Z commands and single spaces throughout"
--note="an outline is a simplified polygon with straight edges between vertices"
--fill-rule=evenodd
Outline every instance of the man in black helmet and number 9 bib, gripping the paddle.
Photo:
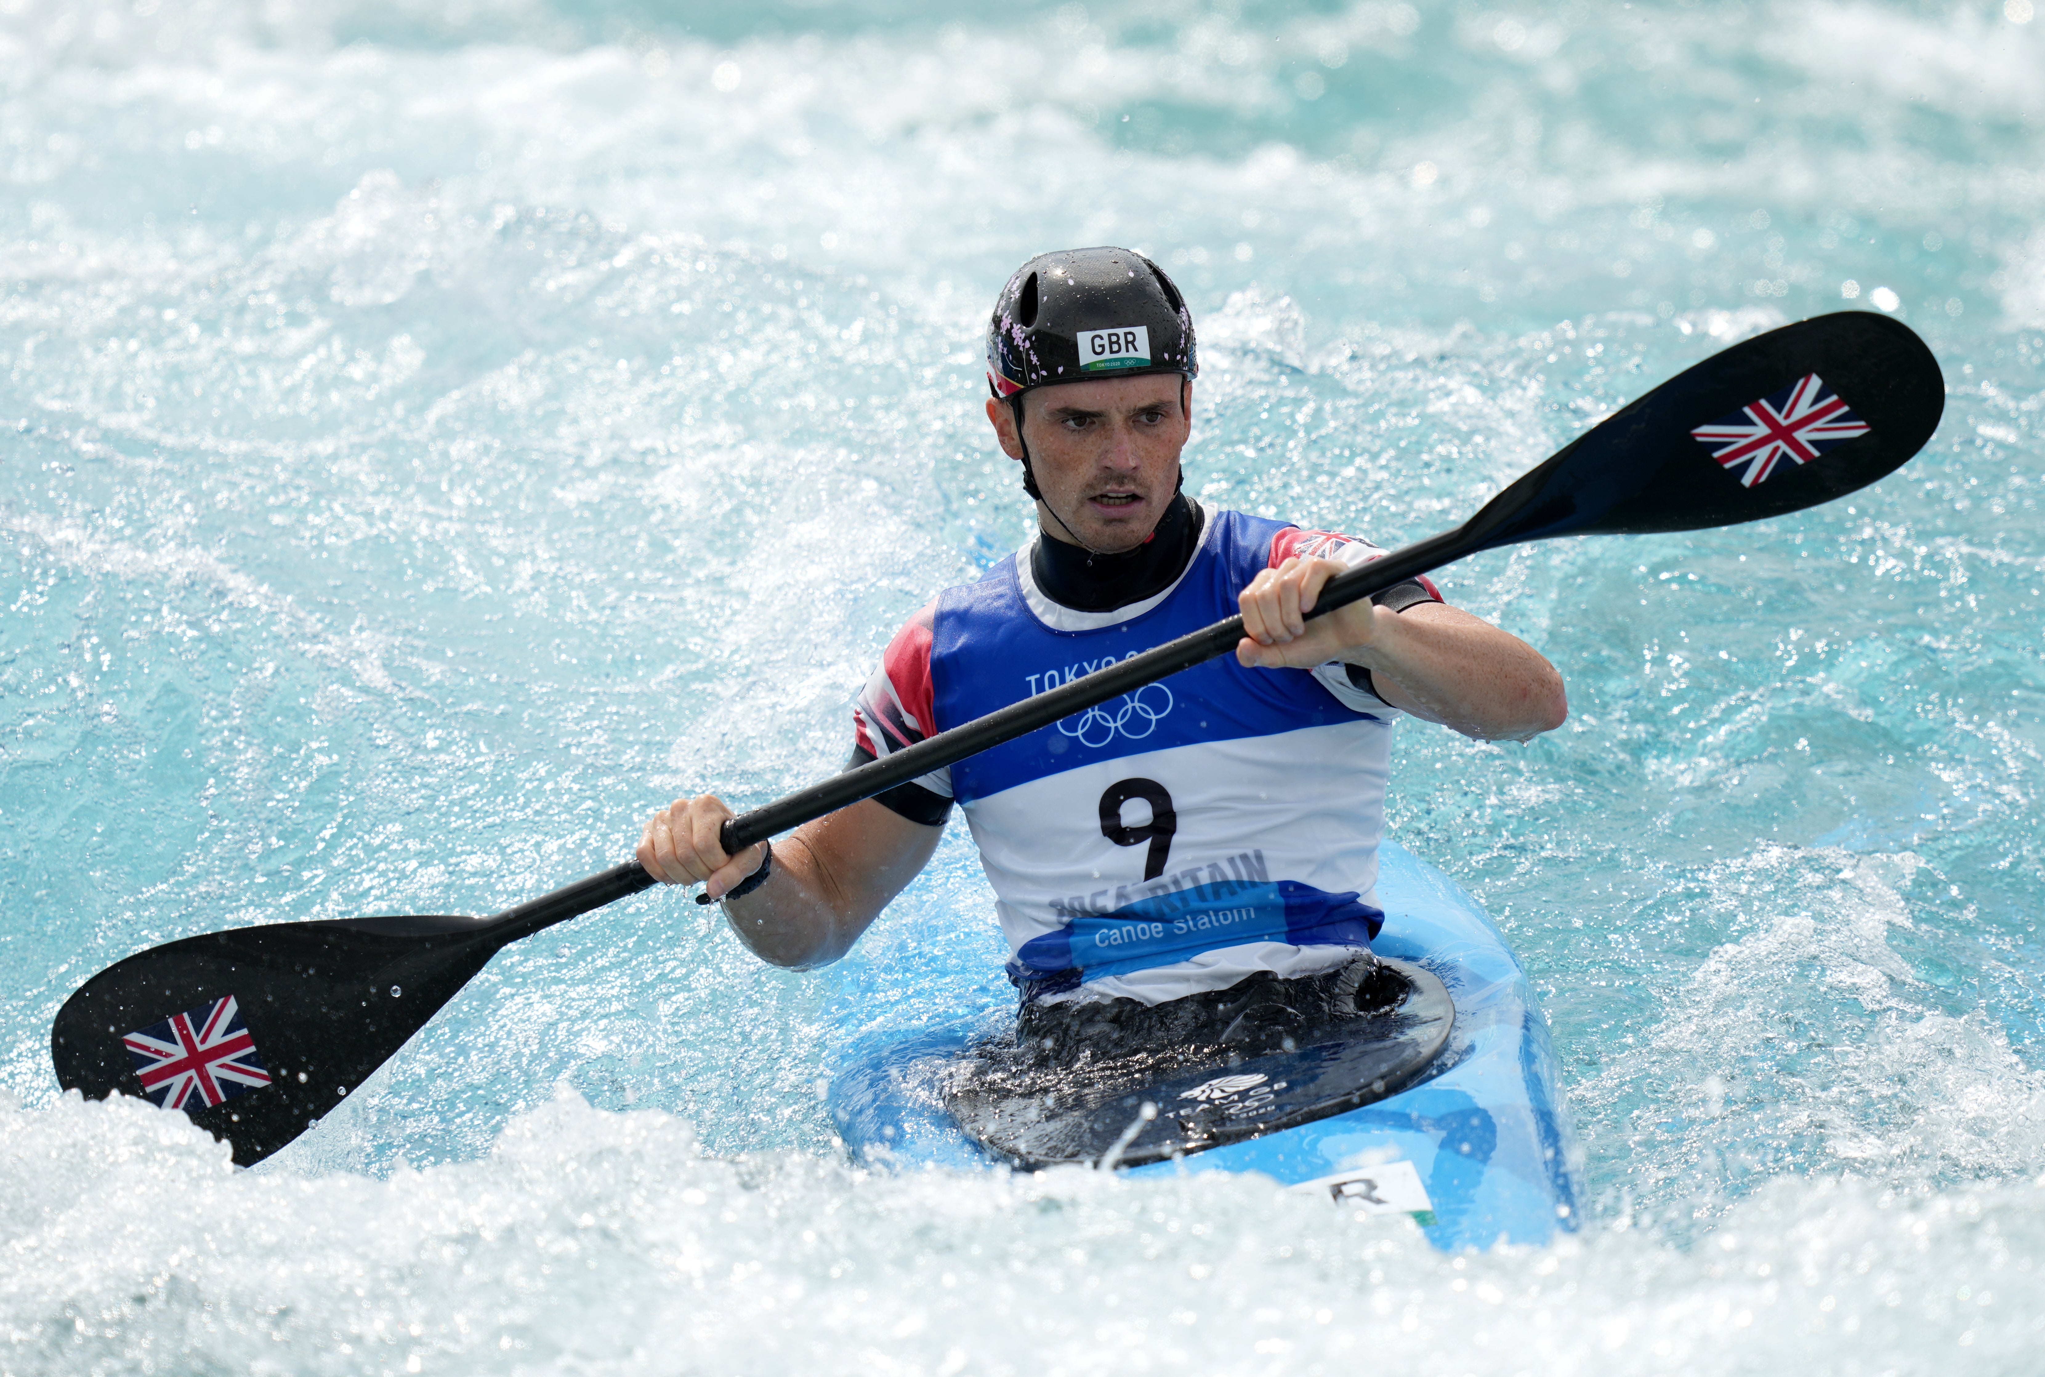
M 1196 372 L 1192 315 L 1149 259 L 1074 249 L 1010 278 L 988 331 L 988 421 L 1022 464 L 1039 531 L 894 637 L 855 709 L 853 764 L 1241 611 L 1233 660 L 855 803 L 771 852 L 726 856 L 730 809 L 681 799 L 646 823 L 646 870 L 706 883 L 761 958 L 820 966 L 922 870 L 957 803 L 1022 1030 L 1045 1046 L 1106 1024 L 1155 1034 L 1172 1026 L 1160 1013 L 1229 1015 L 1243 991 L 1348 999 L 1382 923 L 1393 721 L 1528 740 L 1562 723 L 1562 680 L 1425 580 L 1305 621 L 1333 574 L 1382 552 L 1188 501 Z

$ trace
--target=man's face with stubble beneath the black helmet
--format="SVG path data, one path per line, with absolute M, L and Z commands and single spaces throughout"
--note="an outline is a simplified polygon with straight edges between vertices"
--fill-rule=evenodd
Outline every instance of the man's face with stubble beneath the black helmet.
M 1178 374 L 1061 382 L 1022 394 L 1022 437 L 1043 490 L 1039 507 L 1057 513 L 1088 550 L 1123 554 L 1157 527 L 1178 490 L 1178 452 L 1192 433 L 1192 386 Z M 1012 460 L 1014 411 L 988 400 L 988 419 Z M 1070 537 L 1057 521 L 1043 529 Z

